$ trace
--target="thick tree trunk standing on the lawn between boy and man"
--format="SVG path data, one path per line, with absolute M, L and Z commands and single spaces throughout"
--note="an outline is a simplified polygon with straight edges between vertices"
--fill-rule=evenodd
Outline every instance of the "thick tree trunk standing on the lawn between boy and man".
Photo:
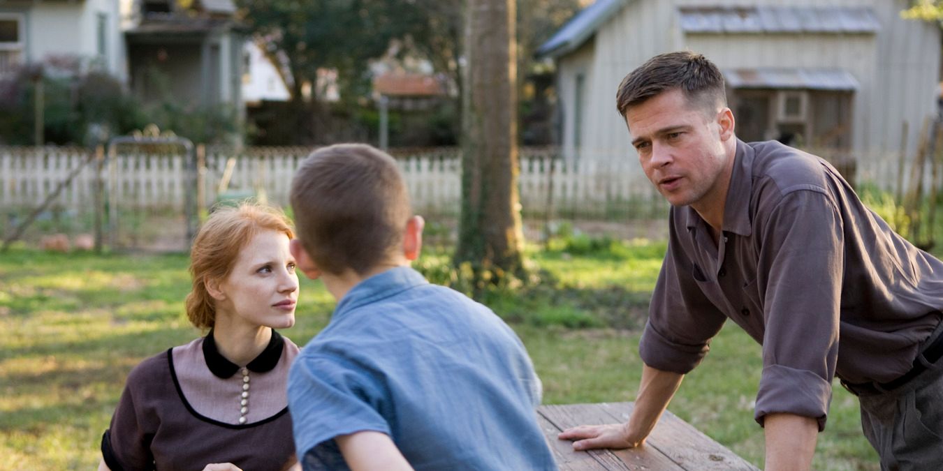
M 522 269 L 514 8 L 514 0 L 469 0 L 466 8 L 462 207 L 455 263 L 471 262 L 499 276 Z

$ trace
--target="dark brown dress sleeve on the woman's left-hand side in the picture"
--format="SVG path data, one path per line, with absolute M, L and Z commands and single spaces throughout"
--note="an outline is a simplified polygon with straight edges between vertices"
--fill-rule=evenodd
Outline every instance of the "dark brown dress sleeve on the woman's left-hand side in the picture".
M 118 407 L 111 416 L 111 425 L 102 436 L 102 458 L 111 471 L 155 468 L 150 445 L 156 425 L 141 411 L 141 394 L 145 392 L 137 387 L 147 383 L 143 381 L 147 375 L 145 370 L 155 361 L 159 359 L 145 360 L 128 375 Z

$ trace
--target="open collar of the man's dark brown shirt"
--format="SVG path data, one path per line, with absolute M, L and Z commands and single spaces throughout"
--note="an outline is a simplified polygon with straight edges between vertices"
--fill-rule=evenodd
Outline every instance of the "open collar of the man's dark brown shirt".
M 750 221 L 750 198 L 753 192 L 753 147 L 736 139 L 734 168 L 727 187 L 727 200 L 723 206 L 723 231 L 736 235 L 753 234 Z M 701 215 L 694 208 L 685 206 L 687 229 L 703 224 Z

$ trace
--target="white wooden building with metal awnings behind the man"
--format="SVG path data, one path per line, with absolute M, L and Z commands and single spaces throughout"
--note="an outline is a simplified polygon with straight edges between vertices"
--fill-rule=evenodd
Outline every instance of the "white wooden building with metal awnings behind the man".
M 906 7 L 905 0 L 597 0 L 538 54 L 557 64 L 561 140 L 571 157 L 634 159 L 616 89 L 647 58 L 688 49 L 724 72 L 738 137 L 832 149 L 854 158 L 859 180 L 873 180 L 897 173 L 902 142 L 912 154 L 936 113 L 940 27 L 902 20 Z

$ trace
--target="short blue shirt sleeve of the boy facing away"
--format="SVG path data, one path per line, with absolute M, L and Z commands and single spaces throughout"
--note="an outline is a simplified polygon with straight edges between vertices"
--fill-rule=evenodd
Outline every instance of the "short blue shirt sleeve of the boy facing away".
M 364 430 L 390 434 L 379 412 L 382 385 L 342 359 L 299 356 L 291 365 L 288 396 L 295 449 L 306 469 L 339 464 L 338 435 Z

